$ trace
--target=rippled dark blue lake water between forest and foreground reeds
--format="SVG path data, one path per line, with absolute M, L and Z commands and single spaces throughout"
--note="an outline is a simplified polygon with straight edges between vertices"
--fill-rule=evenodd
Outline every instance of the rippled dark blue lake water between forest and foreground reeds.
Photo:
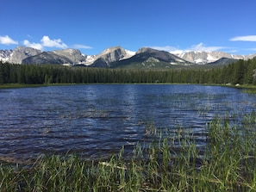
M 0 159 L 91 159 L 147 142 L 147 124 L 205 132 L 216 115 L 252 112 L 256 96 L 219 86 L 88 84 L 0 90 L 0 103 Z

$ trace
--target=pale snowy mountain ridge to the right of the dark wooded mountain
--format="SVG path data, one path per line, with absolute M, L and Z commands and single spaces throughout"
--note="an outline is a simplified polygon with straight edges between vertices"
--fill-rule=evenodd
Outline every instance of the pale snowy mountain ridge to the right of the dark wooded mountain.
M 197 65 L 204 65 L 208 63 L 215 62 L 218 59 L 227 58 L 227 59 L 246 59 L 243 55 L 233 55 L 224 52 L 186 52 L 176 54 L 181 59 L 190 61 L 191 63 Z

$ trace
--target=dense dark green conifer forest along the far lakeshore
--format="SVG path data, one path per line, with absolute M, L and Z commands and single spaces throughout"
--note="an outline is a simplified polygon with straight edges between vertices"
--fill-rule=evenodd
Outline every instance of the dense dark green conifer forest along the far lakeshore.
M 179 83 L 256 84 L 256 59 L 222 68 L 125 70 L 62 65 L 14 65 L 0 61 L 0 84 Z

